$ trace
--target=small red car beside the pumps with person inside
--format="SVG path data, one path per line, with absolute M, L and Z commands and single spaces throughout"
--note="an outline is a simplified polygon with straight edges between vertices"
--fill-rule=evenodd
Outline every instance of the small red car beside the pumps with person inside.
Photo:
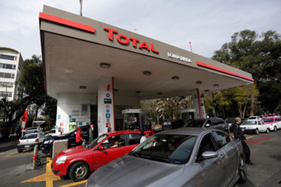
M 130 152 L 140 139 L 140 131 L 107 132 L 88 145 L 59 152 L 52 162 L 53 173 L 68 175 L 75 182 L 85 180 L 90 171 Z

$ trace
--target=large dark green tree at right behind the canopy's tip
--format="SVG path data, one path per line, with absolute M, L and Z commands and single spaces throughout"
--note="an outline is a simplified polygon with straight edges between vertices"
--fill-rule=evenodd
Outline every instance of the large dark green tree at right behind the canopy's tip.
M 253 75 L 260 94 L 258 101 L 252 98 L 252 104 L 260 103 L 267 112 L 274 112 L 280 107 L 281 38 L 278 33 L 267 31 L 258 35 L 250 30 L 236 32 L 229 43 L 214 52 L 212 59 Z M 254 111 L 254 106 L 251 107 Z M 241 108 L 241 114 L 243 110 Z

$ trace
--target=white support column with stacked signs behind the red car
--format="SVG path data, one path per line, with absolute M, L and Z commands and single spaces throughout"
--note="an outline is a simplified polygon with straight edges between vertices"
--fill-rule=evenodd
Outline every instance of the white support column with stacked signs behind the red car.
M 102 76 L 98 80 L 98 133 L 107 132 L 114 125 L 114 79 L 113 77 Z

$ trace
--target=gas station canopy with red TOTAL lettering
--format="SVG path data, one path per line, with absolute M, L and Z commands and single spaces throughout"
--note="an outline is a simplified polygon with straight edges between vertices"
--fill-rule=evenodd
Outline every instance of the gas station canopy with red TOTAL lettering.
M 47 93 L 96 94 L 101 76 L 115 95 L 140 99 L 213 92 L 252 75 L 134 32 L 44 6 L 39 15 Z

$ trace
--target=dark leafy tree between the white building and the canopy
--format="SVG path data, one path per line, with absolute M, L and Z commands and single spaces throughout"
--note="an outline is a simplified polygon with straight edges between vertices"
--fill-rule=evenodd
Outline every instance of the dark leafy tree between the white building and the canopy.
M 19 84 L 19 99 L 6 101 L 2 99 L 0 107 L 5 112 L 5 134 L 9 134 L 12 124 L 22 117 L 25 109 L 30 104 L 41 106 L 46 100 L 44 89 L 43 68 L 40 56 L 33 55 L 32 59 L 23 62 L 22 72 L 16 84 Z M 38 111 L 37 111 L 38 112 Z M 15 117 L 14 117 L 15 116 Z

